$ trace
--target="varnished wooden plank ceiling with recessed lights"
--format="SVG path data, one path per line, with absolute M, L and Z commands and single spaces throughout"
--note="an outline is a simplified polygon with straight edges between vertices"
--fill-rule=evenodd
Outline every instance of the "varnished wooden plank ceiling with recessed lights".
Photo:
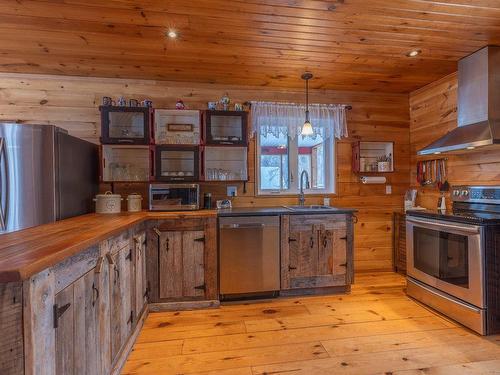
M 4 72 L 410 92 L 500 44 L 500 1 L 1 0 L 0 33 Z

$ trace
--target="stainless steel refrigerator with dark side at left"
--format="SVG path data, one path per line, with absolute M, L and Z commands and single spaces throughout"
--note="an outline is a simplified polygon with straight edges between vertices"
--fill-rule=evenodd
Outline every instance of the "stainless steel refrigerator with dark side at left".
M 92 211 L 97 145 L 49 125 L 0 123 L 0 234 Z

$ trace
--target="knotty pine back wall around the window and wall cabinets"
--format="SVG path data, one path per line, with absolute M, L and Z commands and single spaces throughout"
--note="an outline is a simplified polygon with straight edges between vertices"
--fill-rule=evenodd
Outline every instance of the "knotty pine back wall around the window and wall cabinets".
M 176 100 L 182 99 L 190 109 L 205 109 L 207 101 L 217 100 L 225 92 L 233 102 L 301 103 L 304 100 L 302 89 L 0 73 L 0 120 L 54 124 L 97 143 L 100 136 L 98 106 L 103 96 L 150 98 L 156 108 L 173 108 Z M 310 96 L 312 102 L 353 106 L 348 117 L 350 138 L 337 143 L 337 194 L 331 196 L 331 204 L 359 210 L 355 227 L 356 270 L 389 270 L 392 268 L 392 212 L 401 210 L 410 176 L 408 96 L 332 90 L 312 90 Z M 359 176 L 352 173 L 351 144 L 355 140 L 395 142 L 395 172 L 385 174 L 392 194 L 386 195 L 385 185 L 361 184 Z M 255 147 L 251 141 L 247 192 L 243 192 L 242 184 L 238 186 L 234 206 L 296 204 L 296 196 L 255 196 L 254 164 Z M 102 186 L 107 188 L 109 186 Z M 116 186 L 115 190 L 122 194 L 139 191 L 146 196 L 145 184 Z M 202 191 L 211 191 L 220 199 L 225 196 L 226 184 L 202 184 Z M 322 203 L 322 199 L 323 196 L 308 196 L 306 203 Z

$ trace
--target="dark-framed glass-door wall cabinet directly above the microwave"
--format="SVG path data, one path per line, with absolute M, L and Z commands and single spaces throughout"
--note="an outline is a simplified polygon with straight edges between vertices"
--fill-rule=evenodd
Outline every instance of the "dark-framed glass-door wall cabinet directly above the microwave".
M 198 147 L 156 147 L 158 181 L 196 181 L 199 177 Z

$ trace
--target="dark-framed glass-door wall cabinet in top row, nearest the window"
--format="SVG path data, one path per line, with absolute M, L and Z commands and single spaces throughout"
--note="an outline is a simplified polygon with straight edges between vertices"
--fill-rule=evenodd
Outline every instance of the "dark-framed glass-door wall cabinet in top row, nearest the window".
M 205 111 L 204 142 L 207 145 L 240 145 L 248 143 L 248 113 L 245 111 Z

